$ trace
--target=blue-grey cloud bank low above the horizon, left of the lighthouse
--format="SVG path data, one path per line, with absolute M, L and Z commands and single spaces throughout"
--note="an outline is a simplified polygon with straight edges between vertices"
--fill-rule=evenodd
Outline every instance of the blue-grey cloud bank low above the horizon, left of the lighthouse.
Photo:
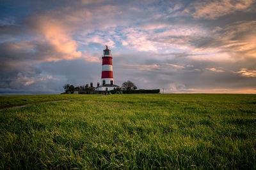
M 27 69 L 30 69 L 31 73 L 19 68 L 2 72 L 0 88 L 13 89 L 17 94 L 24 91 L 29 94 L 59 93 L 63 91 L 62 86 L 65 83 L 84 85 L 93 81 L 96 84 L 100 80 L 101 67 L 99 63 L 93 64 L 84 59 L 76 59 L 42 62 L 37 64 L 37 67 L 30 66 Z

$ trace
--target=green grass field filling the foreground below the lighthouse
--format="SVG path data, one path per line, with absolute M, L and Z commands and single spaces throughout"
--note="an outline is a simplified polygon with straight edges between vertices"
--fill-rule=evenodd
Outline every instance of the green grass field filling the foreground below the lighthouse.
M 40 103 L 42 101 L 58 103 Z M 1 169 L 256 169 L 256 95 L 0 97 Z

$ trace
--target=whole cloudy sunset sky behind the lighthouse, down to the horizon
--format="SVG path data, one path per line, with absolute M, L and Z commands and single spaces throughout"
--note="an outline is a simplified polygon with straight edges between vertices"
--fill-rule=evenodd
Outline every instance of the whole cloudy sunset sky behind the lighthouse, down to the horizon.
M 0 1 L 0 95 L 97 85 L 256 94 L 256 0 Z

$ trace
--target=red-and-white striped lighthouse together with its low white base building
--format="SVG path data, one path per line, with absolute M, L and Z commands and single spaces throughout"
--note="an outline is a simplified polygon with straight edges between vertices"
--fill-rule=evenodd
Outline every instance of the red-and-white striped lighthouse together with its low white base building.
M 106 46 L 102 55 L 101 85 L 98 82 L 96 88 L 98 91 L 109 91 L 118 87 L 118 85 L 114 84 L 112 59 L 111 50 Z

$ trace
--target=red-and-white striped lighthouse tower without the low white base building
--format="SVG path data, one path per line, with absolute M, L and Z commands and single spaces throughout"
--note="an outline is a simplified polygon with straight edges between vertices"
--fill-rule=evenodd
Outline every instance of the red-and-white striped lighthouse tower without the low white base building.
M 113 58 L 111 55 L 111 50 L 109 50 L 108 46 L 106 46 L 106 49 L 103 50 L 103 56 L 102 56 L 102 73 L 101 73 L 102 85 L 114 84 L 112 59 Z

